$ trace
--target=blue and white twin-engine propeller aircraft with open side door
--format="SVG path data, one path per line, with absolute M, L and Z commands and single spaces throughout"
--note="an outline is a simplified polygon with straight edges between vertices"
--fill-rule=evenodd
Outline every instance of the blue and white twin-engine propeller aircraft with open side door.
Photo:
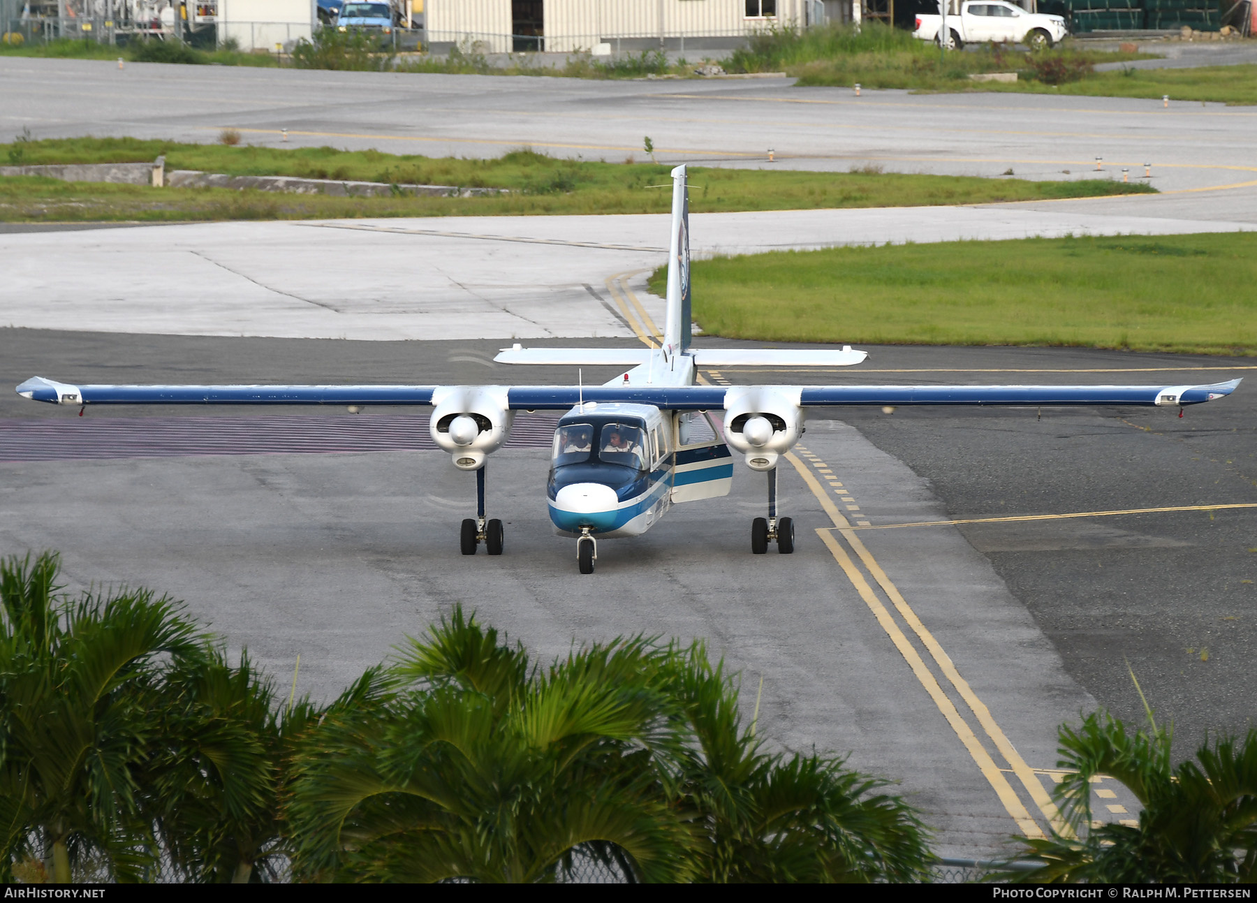
M 846 405 L 1194 405 L 1229 395 L 1239 380 L 1208 386 L 710 386 L 699 367 L 835 367 L 866 352 L 714 350 L 690 345 L 689 191 L 672 170 L 672 235 L 662 345 L 650 348 L 504 350 L 502 363 L 616 365 L 610 382 L 576 386 L 74 386 L 41 377 L 18 392 L 60 405 L 424 405 L 432 440 L 476 474 L 476 517 L 461 548 L 483 542 L 502 555 L 502 521 L 485 519 L 485 459 L 510 434 L 515 411 L 567 411 L 554 433 L 547 485 L 561 536 L 576 538 L 581 573 L 592 573 L 600 538 L 640 536 L 679 503 L 727 496 L 730 446 L 768 475 L 767 517 L 750 524 L 750 551 L 794 551 L 794 524 L 777 516 L 777 462 L 803 433 L 811 407 Z M 723 423 L 711 416 L 723 413 Z

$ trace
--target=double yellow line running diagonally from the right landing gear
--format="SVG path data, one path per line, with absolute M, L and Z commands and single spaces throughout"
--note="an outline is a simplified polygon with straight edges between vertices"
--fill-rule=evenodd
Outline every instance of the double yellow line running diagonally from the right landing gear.
M 921 623 L 920 618 L 918 618 L 916 612 L 913 610 L 913 607 L 904 599 L 903 594 L 899 591 L 899 587 L 895 586 L 895 584 L 886 575 L 881 565 L 877 563 L 876 558 L 874 558 L 874 556 L 869 552 L 865 545 L 855 535 L 854 531 L 859 528 L 851 526 L 851 523 L 846 519 L 842 512 L 838 511 L 837 506 L 830 498 L 828 493 L 825 492 L 823 487 L 821 487 L 816 477 L 812 475 L 811 470 L 803 464 L 803 462 L 798 459 L 797 455 L 794 455 L 793 452 L 788 452 L 786 454 L 786 460 L 788 460 L 794 467 L 794 469 L 803 478 L 803 482 L 807 483 L 808 488 L 812 490 L 812 494 L 816 496 L 816 498 L 821 502 L 821 507 L 825 508 L 826 513 L 833 521 L 837 532 L 841 533 L 842 537 L 847 541 L 847 543 L 855 551 L 856 556 L 864 563 L 865 568 L 869 571 L 870 575 L 872 575 L 874 580 L 881 587 L 882 592 L 885 592 L 886 597 L 890 599 L 895 610 L 904 619 L 904 621 L 911 628 L 913 633 L 916 634 L 918 639 L 930 653 L 930 656 L 934 659 L 935 664 L 948 678 L 950 684 L 957 689 L 957 692 L 960 694 L 960 698 L 964 699 L 965 704 L 968 704 L 969 709 L 977 717 L 978 723 L 982 726 L 983 731 L 987 733 L 988 737 L 991 737 L 992 742 L 994 742 L 996 748 L 999 750 L 999 753 L 1004 757 L 1004 760 L 1007 760 L 1008 765 L 1012 766 L 1013 773 L 1017 775 L 1017 778 L 1026 787 L 1031 799 L 1035 801 L 1035 805 L 1038 806 L 1040 811 L 1043 812 L 1048 823 L 1057 831 L 1067 833 L 1070 830 L 1068 825 L 1065 823 L 1065 819 L 1061 817 L 1061 814 L 1057 810 L 1056 804 L 1052 802 L 1052 797 L 1043 789 L 1043 785 L 1036 777 L 1033 770 L 1026 763 L 1026 761 L 1021 757 L 1021 753 L 1017 752 L 1016 747 L 1004 734 L 1003 729 L 999 727 L 994 717 L 991 714 L 991 709 L 987 708 L 987 704 L 982 702 L 982 699 L 978 697 L 977 693 L 973 692 L 973 688 L 969 685 L 968 680 L 965 680 L 960 675 L 959 670 L 955 667 L 955 663 L 952 662 L 952 658 L 943 649 L 941 644 Z M 1008 786 L 1007 780 L 1003 777 L 1002 773 L 998 773 L 998 768 L 996 768 L 994 761 L 991 760 L 991 756 L 989 753 L 987 753 L 985 748 L 983 748 L 980 743 L 978 743 L 977 750 L 974 750 L 973 746 L 970 745 L 969 738 L 972 737 L 974 743 L 977 743 L 977 738 L 973 737 L 973 732 L 969 728 L 968 723 L 964 722 L 962 718 L 959 718 L 958 713 L 955 714 L 955 718 L 959 721 L 959 723 L 957 723 L 957 721 L 953 721 L 952 716 L 948 712 L 948 707 L 950 707 L 952 712 L 954 712 L 952 702 L 943 693 L 941 688 L 938 685 L 938 682 L 934 679 L 934 675 L 928 669 L 925 669 L 924 663 L 921 663 L 920 669 L 916 667 L 916 663 L 920 662 L 920 656 L 916 655 L 916 650 L 913 649 L 911 645 L 906 643 L 906 638 L 904 639 L 904 643 L 906 644 L 906 649 L 910 650 L 911 656 L 909 655 L 908 651 L 904 650 L 904 646 L 901 646 L 899 640 L 895 639 L 895 635 L 891 634 L 890 628 L 887 628 L 886 623 L 882 620 L 882 616 L 879 615 L 877 609 L 875 607 L 875 602 L 876 606 L 880 606 L 881 604 L 876 601 L 876 596 L 872 595 L 872 601 L 870 601 L 870 597 L 865 595 L 865 589 L 861 589 L 860 582 L 857 582 L 857 580 L 852 577 L 854 566 L 848 567 L 848 565 L 845 563 L 845 561 L 850 562 L 851 558 L 850 556 L 846 555 L 846 551 L 842 548 L 837 538 L 833 536 L 835 532 L 833 528 L 822 527 L 818 528 L 816 532 L 818 536 L 821 536 L 822 541 L 830 548 L 831 553 L 833 553 L 833 557 L 835 560 L 837 560 L 838 565 L 842 566 L 843 571 L 847 572 L 848 579 L 852 580 L 852 584 L 856 586 L 856 590 L 860 592 L 861 597 L 864 597 L 865 602 L 869 604 L 870 609 L 874 610 L 874 615 L 879 618 L 879 623 L 881 623 L 882 628 L 886 629 L 887 634 L 891 635 L 891 639 L 895 641 L 896 648 L 900 648 L 900 651 L 904 654 L 904 658 L 908 659 L 909 665 L 913 667 L 913 672 L 918 675 L 918 679 L 925 687 L 926 692 L 930 693 L 930 697 L 934 698 L 935 704 L 939 706 L 939 709 L 943 712 L 944 717 L 947 717 L 948 722 L 952 723 L 953 729 L 957 731 L 957 734 L 960 737 L 960 741 L 965 745 L 965 748 L 968 748 L 970 755 L 974 757 L 974 761 L 978 763 L 978 767 L 982 770 L 983 775 L 987 777 L 988 781 L 991 781 L 992 787 L 996 790 L 996 794 L 1004 804 L 1004 807 L 1008 810 L 1008 814 L 1012 815 L 1013 820 L 1017 821 L 1018 826 L 1021 826 L 1023 831 L 1027 831 L 1027 836 L 1042 836 L 1042 831 L 1040 830 L 1038 825 L 1036 825 L 1033 819 L 1029 817 L 1029 814 L 1026 811 L 1021 800 L 1017 799 L 1017 795 L 1012 791 L 1012 787 Z M 855 571 L 855 573 L 859 575 L 859 581 L 864 581 L 864 575 L 861 575 L 857 570 Z M 869 594 L 872 594 L 872 590 L 871 587 L 869 587 L 867 581 L 864 581 L 864 587 L 867 589 Z M 882 607 L 881 611 L 885 612 L 885 607 Z M 886 618 L 889 619 L 889 614 L 886 615 Z M 892 619 L 890 620 L 890 626 L 894 628 L 896 631 L 899 630 L 897 625 L 894 624 Z M 903 636 L 901 633 L 900 636 Z M 978 753 L 978 750 L 980 750 L 980 755 Z M 994 770 L 994 773 L 992 772 L 992 770 Z M 1029 821 L 1029 825 L 1031 828 L 1033 828 L 1035 831 L 1033 834 L 1029 833 L 1029 829 L 1023 824 L 1024 820 Z

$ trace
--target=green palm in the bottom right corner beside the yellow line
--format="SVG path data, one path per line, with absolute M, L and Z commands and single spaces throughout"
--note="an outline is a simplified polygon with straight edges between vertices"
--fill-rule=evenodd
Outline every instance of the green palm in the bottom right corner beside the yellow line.
M 1257 731 L 1242 742 L 1205 741 L 1195 760 L 1174 766 L 1170 731 L 1149 713 L 1149 729 L 1128 733 L 1096 712 L 1079 729 L 1062 726 L 1061 762 L 1073 770 L 1056 787 L 1081 839 L 1026 840 L 1024 855 L 1043 861 L 1018 873 L 1027 882 L 1222 883 L 1257 880 Z M 1090 831 L 1091 785 L 1110 775 L 1143 806 L 1138 826 Z

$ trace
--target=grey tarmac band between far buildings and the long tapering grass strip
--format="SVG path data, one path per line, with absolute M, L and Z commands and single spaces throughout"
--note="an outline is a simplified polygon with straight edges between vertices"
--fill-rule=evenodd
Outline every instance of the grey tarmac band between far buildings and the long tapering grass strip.
M 1143 176 L 1161 190 L 1252 181 L 1246 107 L 1051 94 L 910 94 L 796 88 L 793 79 L 597 82 L 236 67 L 0 59 L 0 123 L 34 137 L 113 135 L 373 147 L 493 157 L 557 156 L 1028 179 Z M 768 148 L 776 151 L 768 163 Z M 1205 199 L 1200 199 L 1202 208 Z M 1148 215 L 1158 215 L 1149 213 Z

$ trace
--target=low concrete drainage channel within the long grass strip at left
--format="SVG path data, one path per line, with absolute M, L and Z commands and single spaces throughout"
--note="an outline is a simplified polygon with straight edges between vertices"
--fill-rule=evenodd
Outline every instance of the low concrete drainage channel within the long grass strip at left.
M 166 157 L 151 163 L 74 163 L 64 166 L 0 166 L 0 176 L 43 176 L 67 182 L 113 182 L 172 189 L 251 189 L 338 197 L 481 197 L 510 194 L 509 189 L 469 189 L 459 185 L 411 185 L 363 182 L 343 179 L 299 179 L 297 176 L 229 176 L 200 170 L 166 170 Z

